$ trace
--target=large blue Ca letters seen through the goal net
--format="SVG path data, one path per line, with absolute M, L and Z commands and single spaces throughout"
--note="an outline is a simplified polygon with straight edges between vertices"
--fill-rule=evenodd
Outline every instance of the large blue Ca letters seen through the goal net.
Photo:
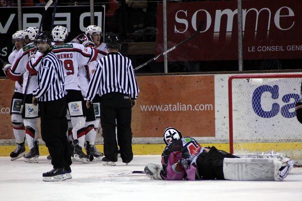
M 270 98 L 272 99 L 271 102 L 271 110 L 267 111 L 263 109 L 263 94 L 266 93 L 267 94 L 270 93 Z M 276 102 L 274 102 L 274 100 L 277 100 L 281 98 L 282 103 L 284 103 L 284 105 L 280 105 Z M 269 85 L 261 85 L 258 86 L 255 91 L 253 92 L 253 97 L 252 97 L 252 106 L 253 106 L 253 110 L 254 112 L 262 118 L 272 118 L 275 117 L 279 112 L 281 112 L 281 115 L 285 118 L 293 118 L 296 116 L 296 113 L 294 112 L 294 110 L 290 110 L 290 109 L 294 109 L 295 104 L 298 102 L 300 98 L 299 94 L 296 93 L 288 93 L 288 94 L 284 94 L 281 96 L 281 94 L 279 94 L 279 86 L 278 85 L 273 85 L 273 86 L 269 86 Z M 290 112 L 293 111 L 293 112 Z

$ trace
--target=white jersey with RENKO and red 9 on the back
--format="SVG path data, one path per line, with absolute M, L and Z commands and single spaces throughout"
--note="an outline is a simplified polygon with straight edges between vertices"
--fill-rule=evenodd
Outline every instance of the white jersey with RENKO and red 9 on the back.
M 53 45 L 52 52 L 63 64 L 65 89 L 81 90 L 78 78 L 79 67 L 95 61 L 98 56 L 97 49 L 93 47 L 86 48 L 78 43 L 65 43 Z

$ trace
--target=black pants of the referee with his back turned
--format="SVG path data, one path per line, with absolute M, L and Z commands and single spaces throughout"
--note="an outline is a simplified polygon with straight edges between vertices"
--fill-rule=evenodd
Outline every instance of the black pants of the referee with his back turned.
M 129 163 L 133 159 L 129 95 L 117 92 L 102 95 L 100 110 L 105 157 L 110 161 L 117 161 L 118 144 L 122 161 Z M 117 142 L 115 125 L 117 126 Z

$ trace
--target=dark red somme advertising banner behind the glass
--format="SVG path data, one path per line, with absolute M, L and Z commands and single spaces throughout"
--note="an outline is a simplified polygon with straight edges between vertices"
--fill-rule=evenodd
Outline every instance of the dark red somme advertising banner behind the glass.
M 243 1 L 244 59 L 302 58 L 302 1 Z M 167 4 L 168 48 L 200 34 L 168 54 L 169 61 L 237 60 L 237 1 Z M 163 52 L 163 5 L 157 14 L 158 53 Z

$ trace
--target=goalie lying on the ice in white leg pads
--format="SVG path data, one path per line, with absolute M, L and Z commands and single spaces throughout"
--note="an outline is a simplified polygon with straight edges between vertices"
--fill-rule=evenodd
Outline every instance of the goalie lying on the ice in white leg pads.
M 282 156 L 259 154 L 241 158 L 215 147 L 201 147 L 195 139 L 183 138 L 172 127 L 165 130 L 164 141 L 167 146 L 162 154 L 162 166 L 150 163 L 144 168 L 150 178 L 282 181 L 294 164 Z

